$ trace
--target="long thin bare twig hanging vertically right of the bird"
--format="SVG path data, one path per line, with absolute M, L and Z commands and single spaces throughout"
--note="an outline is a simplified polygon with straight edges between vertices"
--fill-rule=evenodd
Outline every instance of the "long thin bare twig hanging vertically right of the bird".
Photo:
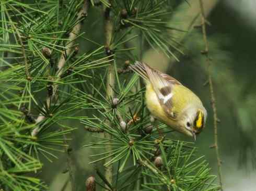
M 205 24 L 206 22 L 205 22 L 204 7 L 203 7 L 202 0 L 199 0 L 199 3 L 200 3 L 200 9 L 201 9 L 202 33 L 203 33 L 203 39 L 205 43 L 205 49 L 201 53 L 205 55 L 206 62 L 208 64 L 208 83 L 210 87 L 211 105 L 213 109 L 213 122 L 214 122 L 214 148 L 215 148 L 216 157 L 217 157 L 220 190 L 223 190 L 222 170 L 221 170 L 222 163 L 219 157 L 219 150 L 218 150 L 218 131 L 217 131 L 218 117 L 217 117 L 217 108 L 216 108 L 216 102 L 215 102 L 215 96 L 214 96 L 214 90 L 213 90 L 213 80 L 212 80 L 212 75 L 210 70 L 210 59 L 208 56 L 209 46 L 208 46 L 207 35 L 206 35 L 206 24 Z

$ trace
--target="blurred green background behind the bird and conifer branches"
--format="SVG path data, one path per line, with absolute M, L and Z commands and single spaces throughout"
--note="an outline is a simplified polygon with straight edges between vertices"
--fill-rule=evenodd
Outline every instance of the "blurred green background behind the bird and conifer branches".
M 196 17 L 199 3 L 195 0 L 189 2 L 190 5 L 177 1 L 174 5 L 176 8 L 173 18 L 170 18 L 172 26 L 185 29 L 193 18 L 197 18 L 195 25 L 200 24 L 199 17 Z M 211 23 L 211 26 L 207 26 L 207 36 L 212 59 L 217 115 L 220 119 L 218 143 L 223 162 L 224 190 L 255 190 L 256 1 L 208 0 L 204 1 L 204 4 L 207 19 Z M 90 9 L 82 31 L 86 32 L 88 39 L 95 39 L 103 44 L 103 21 L 99 14 L 100 9 Z M 100 28 L 102 31 L 98 30 Z M 214 143 L 213 113 L 209 87 L 203 85 L 208 77 L 205 57 L 200 53 L 204 49 L 201 28 L 191 29 L 189 34 L 174 35 L 183 40 L 182 49 L 185 56 L 179 57 L 180 62 L 170 60 L 148 46 L 145 47 L 142 60 L 172 75 L 202 99 L 208 111 L 207 126 L 197 137 L 195 146 L 199 147 L 199 155 L 205 155 L 210 163 L 212 174 L 217 174 L 215 150 L 209 148 Z M 93 44 L 80 43 L 80 53 L 94 48 Z M 134 54 L 139 57 L 139 49 L 135 50 Z M 120 67 L 122 64 L 120 63 Z M 94 166 L 88 164 L 88 156 L 96 151 L 83 147 L 92 141 L 92 134 L 85 131 L 83 125 L 78 122 L 72 125 L 78 128 L 71 135 L 72 157 L 76 167 L 75 179 L 78 190 L 85 190 L 85 180 L 89 175 L 95 174 Z M 180 134 L 175 136 L 184 141 L 192 141 Z M 45 161 L 40 173 L 40 177 L 50 185 L 50 190 L 60 190 L 68 179 L 68 173 L 62 173 L 66 169 L 66 155 L 58 155 L 60 160 L 53 160 L 50 164 Z

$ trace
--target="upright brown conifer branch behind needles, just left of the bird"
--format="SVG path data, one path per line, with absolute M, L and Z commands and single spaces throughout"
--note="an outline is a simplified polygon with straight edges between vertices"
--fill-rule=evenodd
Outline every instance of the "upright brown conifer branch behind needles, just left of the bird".
M 106 54 L 108 56 L 113 55 L 112 49 L 111 49 L 111 41 L 112 41 L 112 34 L 113 34 L 113 21 L 112 18 L 110 16 L 110 7 L 104 7 L 104 32 L 105 32 L 105 50 L 106 50 Z M 107 74 L 107 84 L 106 84 L 106 98 L 109 101 L 112 101 L 113 96 L 114 96 L 114 92 L 112 87 L 114 87 L 114 83 L 115 83 L 115 79 L 114 79 L 114 62 L 110 62 L 110 65 L 108 67 L 108 74 Z M 111 125 L 110 121 L 108 122 L 109 125 Z M 107 132 L 104 132 L 104 137 L 107 139 L 111 139 L 111 135 L 108 134 Z M 106 151 L 111 152 L 111 148 L 106 148 Z M 107 159 L 111 160 L 111 159 Z M 105 167 L 105 177 L 107 179 L 107 181 L 112 184 L 112 179 L 113 179 L 113 166 L 112 164 L 109 165 L 108 167 Z M 106 185 L 106 187 L 108 187 L 108 185 Z

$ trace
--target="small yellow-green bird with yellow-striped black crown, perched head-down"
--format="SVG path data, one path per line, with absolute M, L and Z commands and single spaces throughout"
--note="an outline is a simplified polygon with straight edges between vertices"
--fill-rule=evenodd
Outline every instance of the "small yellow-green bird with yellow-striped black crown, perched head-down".
M 150 113 L 172 129 L 195 137 L 205 126 L 207 111 L 202 101 L 178 80 L 136 61 L 130 69 L 146 82 L 146 105 Z

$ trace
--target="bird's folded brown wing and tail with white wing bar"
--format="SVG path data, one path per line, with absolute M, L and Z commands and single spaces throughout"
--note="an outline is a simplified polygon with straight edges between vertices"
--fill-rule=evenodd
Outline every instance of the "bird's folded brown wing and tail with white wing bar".
M 174 94 L 172 88 L 173 85 L 181 85 L 181 83 L 169 75 L 149 67 L 146 63 L 136 61 L 135 65 L 131 66 L 130 68 L 152 84 L 159 103 L 161 104 L 165 113 L 171 118 L 175 119 L 177 117 L 176 113 L 173 113 L 171 110 L 171 98 Z

